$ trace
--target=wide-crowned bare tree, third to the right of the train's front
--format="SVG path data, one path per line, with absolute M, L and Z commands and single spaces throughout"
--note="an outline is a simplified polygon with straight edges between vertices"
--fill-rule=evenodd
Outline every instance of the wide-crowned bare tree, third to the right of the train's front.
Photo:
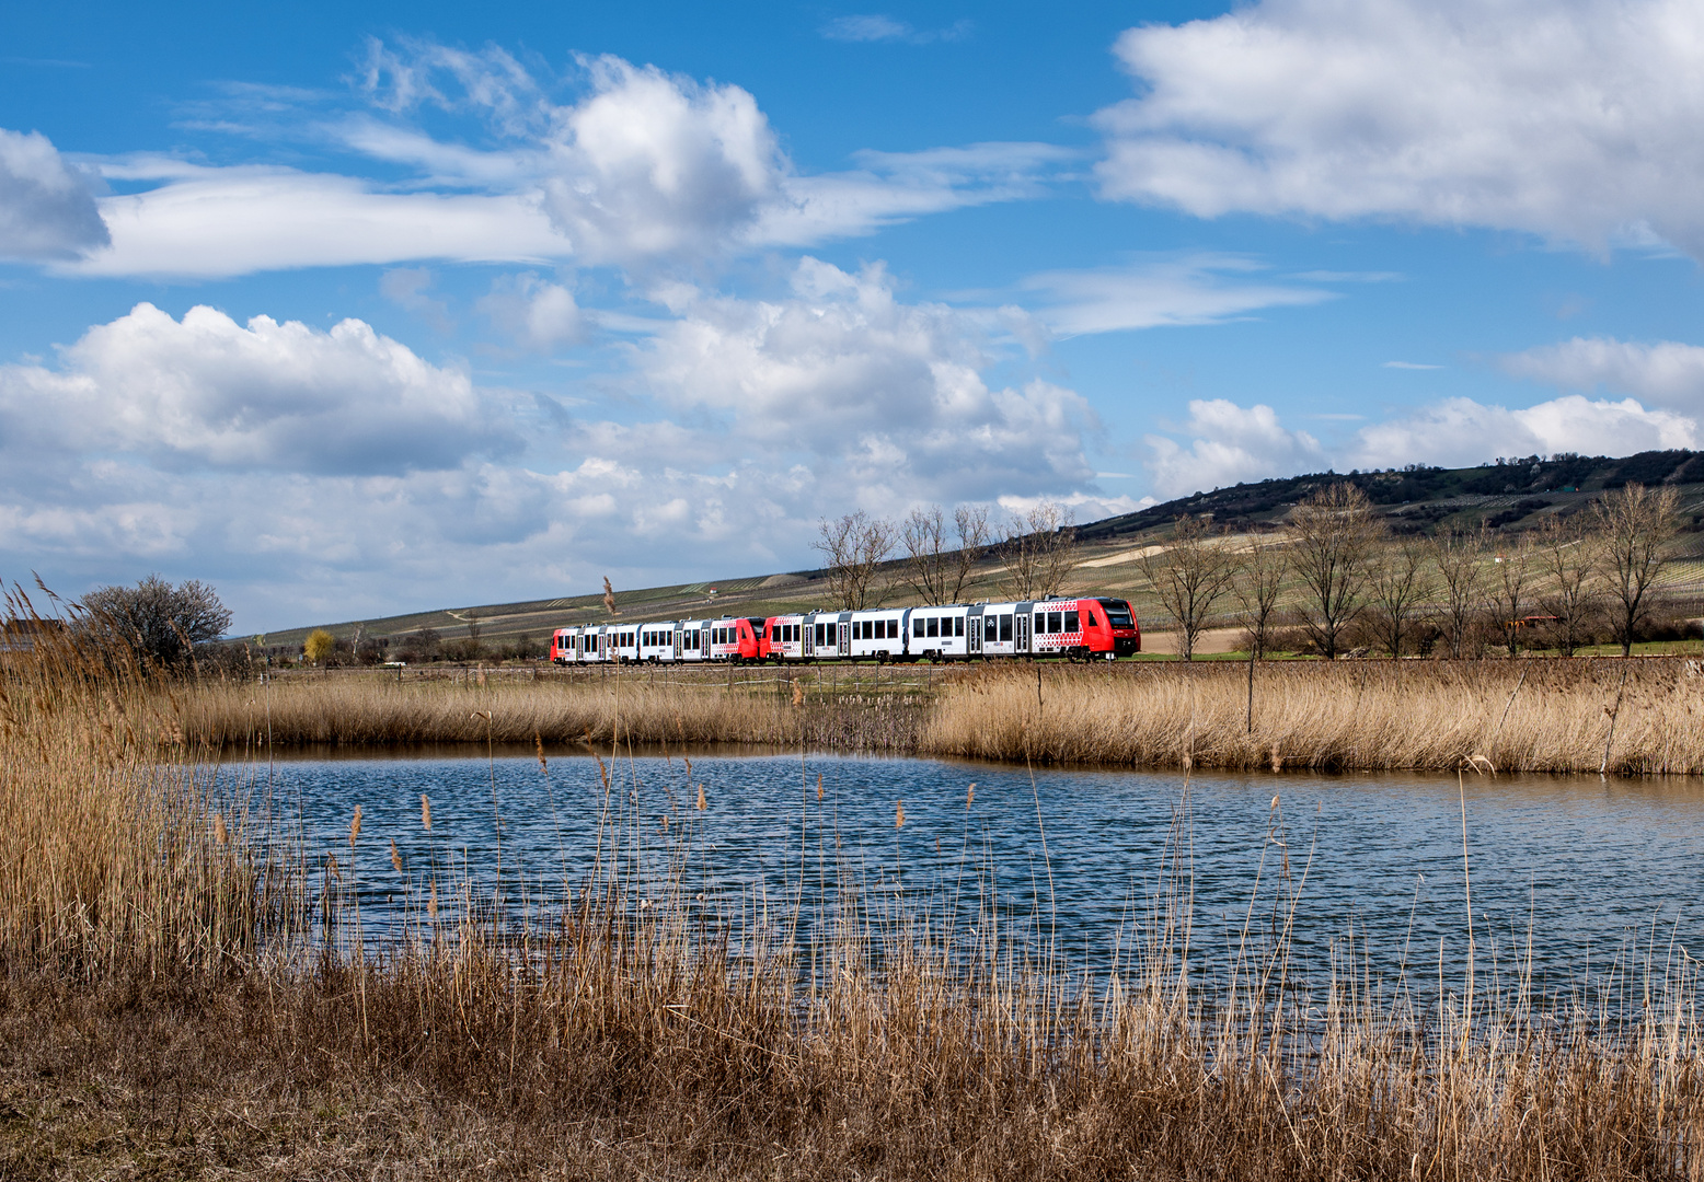
M 1367 606 L 1384 523 L 1353 484 L 1331 484 L 1290 511 L 1290 569 L 1302 581 L 1302 627 L 1327 661 Z

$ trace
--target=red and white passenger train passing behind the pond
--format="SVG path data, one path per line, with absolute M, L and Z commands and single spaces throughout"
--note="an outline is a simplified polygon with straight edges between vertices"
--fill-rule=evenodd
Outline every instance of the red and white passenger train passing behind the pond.
M 593 623 L 550 634 L 556 664 L 1114 661 L 1142 652 L 1128 600 L 1019 600 L 716 620 Z

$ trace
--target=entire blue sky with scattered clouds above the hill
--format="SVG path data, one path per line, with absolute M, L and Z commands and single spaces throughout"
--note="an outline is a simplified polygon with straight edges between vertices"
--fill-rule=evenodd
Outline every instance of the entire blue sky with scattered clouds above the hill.
M 0 577 L 233 632 L 1704 446 L 1704 5 L 7 5 Z

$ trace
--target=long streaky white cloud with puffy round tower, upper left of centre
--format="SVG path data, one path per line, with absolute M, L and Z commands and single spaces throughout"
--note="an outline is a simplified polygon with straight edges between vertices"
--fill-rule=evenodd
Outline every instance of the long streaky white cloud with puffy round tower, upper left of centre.
M 414 170 L 406 184 L 145 155 L 109 160 L 107 177 L 153 187 L 104 198 L 111 247 L 61 269 L 223 278 L 433 259 L 690 267 L 1034 198 L 1075 157 L 1050 145 L 982 143 L 866 152 L 855 169 L 801 174 L 741 87 L 615 56 L 581 68 L 584 94 L 556 104 L 501 49 L 375 43 L 363 83 L 390 118 L 312 126 L 337 148 Z M 407 123 L 424 104 L 482 119 L 486 146 L 435 140 Z

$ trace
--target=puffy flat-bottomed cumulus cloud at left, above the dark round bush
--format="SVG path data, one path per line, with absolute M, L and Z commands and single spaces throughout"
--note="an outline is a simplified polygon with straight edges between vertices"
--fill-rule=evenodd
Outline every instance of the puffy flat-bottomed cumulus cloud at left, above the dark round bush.
M 513 443 L 465 373 L 360 320 L 322 332 L 140 303 L 56 368 L 0 366 L 0 448 L 20 465 L 104 453 L 172 470 L 397 473 Z

